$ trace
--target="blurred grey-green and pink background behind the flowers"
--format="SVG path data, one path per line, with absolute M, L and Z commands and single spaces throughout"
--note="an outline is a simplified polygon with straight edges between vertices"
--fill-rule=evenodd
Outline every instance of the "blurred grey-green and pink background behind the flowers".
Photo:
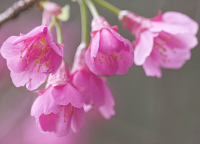
M 16 2 L 0 1 L 0 13 Z M 62 23 L 62 28 L 64 59 L 72 66 L 81 38 L 79 6 L 70 0 L 52 1 L 61 6 L 71 6 L 71 17 L 68 22 Z M 120 9 L 128 9 L 149 18 L 156 16 L 158 10 L 178 11 L 200 23 L 200 0 L 107 1 Z M 117 17 L 99 6 L 97 8 L 111 25 L 119 26 L 119 33 L 122 36 L 133 40 L 131 34 L 120 25 Z M 91 20 L 89 11 L 88 15 Z M 27 33 L 40 25 L 41 16 L 40 10 L 31 8 L 1 26 L 0 45 L 9 36 Z M 90 22 L 88 26 L 90 27 Z M 200 38 L 200 33 L 197 36 Z M 76 143 L 200 144 L 200 46 L 192 50 L 191 60 L 180 70 L 163 69 L 162 72 L 161 79 L 147 77 L 142 67 L 133 65 L 126 75 L 109 77 L 107 84 L 116 101 L 116 115 L 111 120 L 104 120 L 95 112 L 88 113 L 83 129 L 74 136 L 75 139 L 81 140 Z M 39 89 L 43 88 L 44 85 Z M 37 94 L 29 92 L 26 88 L 16 88 L 12 84 L 6 61 L 0 56 L 0 144 L 32 144 L 33 141 L 30 139 L 33 139 L 33 134 L 28 135 L 31 137 L 28 141 L 27 128 L 25 129 L 24 125 L 30 122 L 29 131 L 32 131 L 31 127 L 35 128 L 34 118 L 30 118 L 30 109 L 36 97 Z M 45 137 L 45 134 L 40 134 L 34 139 L 42 139 L 43 136 Z M 69 141 L 51 142 L 75 144 Z

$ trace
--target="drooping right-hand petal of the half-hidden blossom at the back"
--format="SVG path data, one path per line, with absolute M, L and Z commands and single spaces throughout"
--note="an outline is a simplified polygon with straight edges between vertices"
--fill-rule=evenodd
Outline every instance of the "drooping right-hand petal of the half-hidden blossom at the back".
M 104 93 L 105 93 L 105 103 L 102 107 L 99 108 L 99 111 L 105 119 L 110 119 L 111 116 L 115 115 L 115 110 L 114 110 L 115 101 L 106 84 L 104 84 Z

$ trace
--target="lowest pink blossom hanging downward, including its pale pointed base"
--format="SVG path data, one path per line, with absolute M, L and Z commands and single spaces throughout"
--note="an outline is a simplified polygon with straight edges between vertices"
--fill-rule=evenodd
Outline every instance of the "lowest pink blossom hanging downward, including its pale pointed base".
M 32 106 L 31 115 L 42 132 L 65 136 L 70 129 L 78 133 L 85 122 L 83 96 L 70 79 L 65 62 L 55 75 L 50 75 L 45 90 Z

